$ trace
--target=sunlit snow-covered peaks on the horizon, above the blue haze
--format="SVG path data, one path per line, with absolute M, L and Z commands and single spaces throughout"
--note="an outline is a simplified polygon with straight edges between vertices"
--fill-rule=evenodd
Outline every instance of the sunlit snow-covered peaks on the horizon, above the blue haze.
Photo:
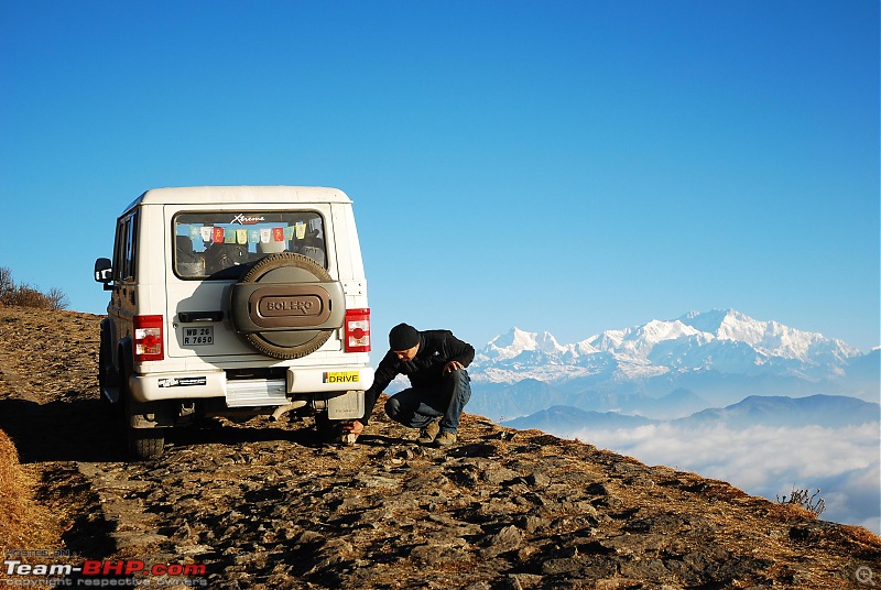
M 844 374 L 842 367 L 860 356 L 840 340 L 727 309 L 607 330 L 573 345 L 512 328 L 478 352 L 472 373 L 497 383 L 559 383 L 610 370 L 620 380 L 698 370 L 829 376 Z

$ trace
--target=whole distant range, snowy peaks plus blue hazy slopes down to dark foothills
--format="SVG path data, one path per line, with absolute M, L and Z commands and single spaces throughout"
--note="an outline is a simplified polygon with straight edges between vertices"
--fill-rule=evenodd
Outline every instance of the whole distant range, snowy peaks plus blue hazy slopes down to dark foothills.
M 673 418 L 749 395 L 877 402 L 879 356 L 735 309 L 692 312 L 568 345 L 513 328 L 475 357 L 469 411 L 500 419 L 570 405 Z

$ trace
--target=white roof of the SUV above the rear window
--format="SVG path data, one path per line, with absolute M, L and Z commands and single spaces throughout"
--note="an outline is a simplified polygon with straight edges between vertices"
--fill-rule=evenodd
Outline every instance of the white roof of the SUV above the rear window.
M 323 186 L 186 186 L 152 188 L 134 199 L 138 205 L 351 203 L 338 188 Z

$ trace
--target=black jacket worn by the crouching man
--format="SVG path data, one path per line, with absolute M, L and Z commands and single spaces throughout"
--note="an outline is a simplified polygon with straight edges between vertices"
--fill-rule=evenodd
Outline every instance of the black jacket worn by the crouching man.
M 475 347 L 463 342 L 449 330 L 425 330 L 420 332 L 420 348 L 412 361 L 402 361 L 389 350 L 379 362 L 373 384 L 365 392 L 365 416 L 360 420 L 367 426 L 379 394 L 392 380 L 404 374 L 414 387 L 437 387 L 444 378 L 444 367 L 449 361 L 459 361 L 468 367 L 475 360 Z

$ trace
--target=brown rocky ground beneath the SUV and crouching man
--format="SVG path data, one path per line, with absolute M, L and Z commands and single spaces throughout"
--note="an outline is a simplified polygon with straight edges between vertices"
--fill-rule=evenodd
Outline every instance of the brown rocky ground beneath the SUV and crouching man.
M 98 400 L 98 321 L 0 308 L 0 428 L 62 531 L 57 547 L 7 557 L 205 566 L 182 588 L 881 583 L 881 538 L 866 529 L 479 416 L 448 450 L 417 446 L 381 404 L 352 448 L 317 441 L 309 417 L 215 420 L 173 434 L 161 459 L 126 462 Z

